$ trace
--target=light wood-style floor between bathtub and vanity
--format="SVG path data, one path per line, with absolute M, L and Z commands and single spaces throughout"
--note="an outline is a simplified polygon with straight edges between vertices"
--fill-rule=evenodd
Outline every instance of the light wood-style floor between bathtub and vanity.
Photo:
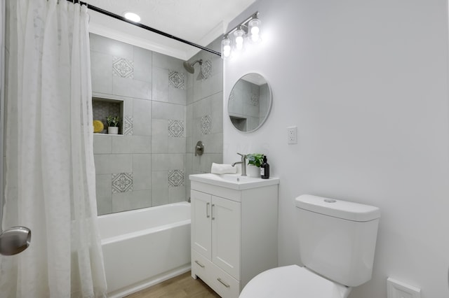
M 136 292 L 128 298 L 213 298 L 220 297 L 201 279 L 193 279 L 190 271 L 150 288 Z

